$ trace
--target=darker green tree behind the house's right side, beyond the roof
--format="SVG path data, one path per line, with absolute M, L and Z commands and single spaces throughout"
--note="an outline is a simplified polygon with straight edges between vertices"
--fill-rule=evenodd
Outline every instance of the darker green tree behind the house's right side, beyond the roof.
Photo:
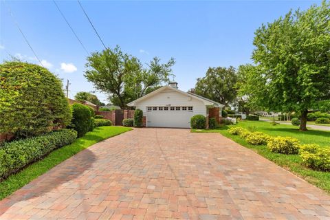
M 233 89 L 236 82 L 237 75 L 234 67 L 210 67 L 206 76 L 197 78 L 195 92 L 199 96 L 228 106 L 236 98 L 236 89 Z

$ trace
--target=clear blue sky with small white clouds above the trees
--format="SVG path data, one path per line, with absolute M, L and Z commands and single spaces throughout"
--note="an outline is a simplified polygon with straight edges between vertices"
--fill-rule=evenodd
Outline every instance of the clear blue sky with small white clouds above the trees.
M 94 30 L 77 1 L 56 1 L 89 52 L 102 50 Z M 174 57 L 173 72 L 179 89 L 187 91 L 208 67 L 238 67 L 251 63 L 254 31 L 291 8 L 307 9 L 320 1 L 81 1 L 102 40 L 109 47 L 148 63 Z M 8 54 L 37 63 L 30 47 L 63 80 L 69 96 L 95 91 L 83 76 L 86 52 L 52 1 L 5 1 L 0 9 L 0 60 Z M 107 98 L 97 91 L 100 100 Z

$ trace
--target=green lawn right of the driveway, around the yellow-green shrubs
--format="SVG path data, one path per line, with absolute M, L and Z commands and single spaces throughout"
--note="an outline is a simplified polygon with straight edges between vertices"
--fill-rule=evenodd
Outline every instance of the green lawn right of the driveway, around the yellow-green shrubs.
M 252 149 L 259 155 L 270 159 L 272 162 L 283 166 L 287 170 L 290 170 L 292 173 L 303 177 L 311 184 L 322 188 L 326 192 L 330 193 L 330 173 L 320 172 L 316 170 L 311 170 L 303 166 L 302 160 L 298 155 L 283 155 L 280 153 L 271 152 L 266 146 L 254 146 L 248 144 L 242 137 L 238 135 L 231 135 L 227 129 L 231 126 L 242 126 L 245 129 L 250 131 L 261 131 L 272 136 L 289 136 L 296 137 L 301 144 L 319 144 L 323 147 L 330 147 L 330 131 L 298 131 L 297 126 L 287 125 L 287 124 L 277 124 L 276 126 L 272 125 L 270 122 L 254 122 L 254 121 L 242 121 L 236 125 L 222 126 L 219 129 L 210 129 L 210 130 L 192 130 L 192 132 L 217 132 L 221 133 L 225 137 L 229 137 L 245 146 Z

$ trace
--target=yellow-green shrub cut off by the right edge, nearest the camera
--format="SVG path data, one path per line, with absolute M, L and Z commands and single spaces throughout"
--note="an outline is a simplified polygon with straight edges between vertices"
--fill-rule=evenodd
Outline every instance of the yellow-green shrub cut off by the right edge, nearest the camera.
M 305 144 L 300 146 L 299 154 L 307 167 L 330 171 L 330 148 L 320 147 L 317 144 Z

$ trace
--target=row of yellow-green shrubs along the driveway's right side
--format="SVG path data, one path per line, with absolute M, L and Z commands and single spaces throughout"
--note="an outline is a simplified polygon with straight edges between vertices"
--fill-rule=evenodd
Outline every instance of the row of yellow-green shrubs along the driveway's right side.
M 299 154 L 303 163 L 316 170 L 330 171 L 330 148 L 324 148 L 317 144 L 300 145 L 294 137 L 272 137 L 262 132 L 252 132 L 242 127 L 228 129 L 232 135 L 243 137 L 252 145 L 267 145 L 270 151 L 283 154 Z

